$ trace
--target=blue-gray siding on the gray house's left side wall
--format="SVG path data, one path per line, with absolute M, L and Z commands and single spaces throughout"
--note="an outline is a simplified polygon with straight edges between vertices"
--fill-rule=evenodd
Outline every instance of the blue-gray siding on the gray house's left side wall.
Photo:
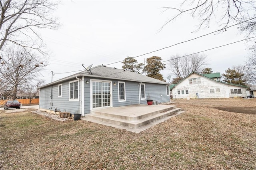
M 74 81 L 76 79 L 72 79 L 70 81 Z M 50 108 L 50 95 L 51 95 L 51 87 L 45 87 L 40 90 L 40 108 L 53 110 L 57 108 L 59 111 L 70 112 L 71 114 L 76 113 L 76 111 L 80 112 L 79 101 L 69 101 L 69 82 L 65 81 L 59 84 L 62 84 L 62 97 L 58 97 L 58 85 L 52 85 L 52 108 Z M 80 98 L 80 87 L 79 83 L 78 94 Z

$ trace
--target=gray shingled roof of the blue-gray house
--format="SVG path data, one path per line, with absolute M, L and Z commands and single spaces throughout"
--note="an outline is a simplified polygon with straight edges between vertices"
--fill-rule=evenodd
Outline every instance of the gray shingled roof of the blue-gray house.
M 80 73 L 76 73 L 73 75 L 70 75 L 68 77 L 65 77 L 63 79 L 54 81 L 52 83 L 49 83 L 47 85 L 44 85 L 43 87 L 47 87 L 49 85 L 57 84 L 62 81 L 68 81 L 70 79 L 74 79 L 76 77 L 81 77 L 81 76 L 86 76 L 90 77 L 91 79 L 117 79 L 117 80 L 122 80 L 122 81 L 135 81 L 135 82 L 142 82 L 142 83 L 155 83 L 155 84 L 165 84 L 165 85 L 170 85 L 170 83 L 166 83 L 165 81 L 160 81 L 158 79 L 154 79 L 152 77 L 148 77 L 146 75 L 142 75 L 139 73 L 134 73 L 131 71 L 125 71 L 122 69 L 117 69 L 117 68 L 112 68 L 112 67 L 106 67 L 102 65 L 98 65 L 96 67 L 92 67 L 90 71 L 81 71 Z

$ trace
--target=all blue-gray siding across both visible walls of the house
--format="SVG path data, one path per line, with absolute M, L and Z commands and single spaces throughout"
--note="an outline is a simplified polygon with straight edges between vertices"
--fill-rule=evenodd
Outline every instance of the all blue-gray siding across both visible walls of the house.
M 94 78 L 96 79 L 96 78 Z M 74 81 L 76 79 L 72 79 L 70 81 Z M 98 79 L 99 81 L 104 81 L 104 78 Z M 147 104 L 146 99 L 140 100 L 139 97 L 139 84 L 140 82 L 134 81 L 121 81 L 125 82 L 125 99 L 126 101 L 118 101 L 119 94 L 118 94 L 118 82 L 120 80 L 114 79 L 105 79 L 106 81 L 112 81 L 111 90 L 112 90 L 112 106 L 113 107 L 120 107 L 126 105 L 136 105 L 136 104 Z M 40 108 L 53 110 L 57 108 L 59 111 L 63 112 L 64 109 L 66 112 L 70 112 L 74 114 L 76 111 L 80 113 L 80 105 L 78 101 L 69 101 L 69 83 L 70 81 L 64 81 L 62 83 L 54 84 L 52 86 L 52 108 L 50 108 L 50 95 L 51 95 L 51 86 L 44 87 L 40 89 Z M 89 83 L 86 83 L 89 81 Z M 84 114 L 90 113 L 91 107 L 91 99 L 90 99 L 90 78 L 84 77 Z M 116 85 L 114 85 L 116 83 Z M 142 82 L 143 83 L 143 82 Z M 62 97 L 58 97 L 58 85 L 62 84 Z M 158 103 L 164 103 L 170 101 L 170 96 L 166 95 L 166 85 L 163 84 L 154 84 L 154 83 L 144 83 L 145 84 L 145 96 L 147 97 L 148 94 L 152 97 L 153 101 L 158 101 Z M 80 99 L 80 89 L 81 89 L 81 81 L 79 81 L 79 99 Z

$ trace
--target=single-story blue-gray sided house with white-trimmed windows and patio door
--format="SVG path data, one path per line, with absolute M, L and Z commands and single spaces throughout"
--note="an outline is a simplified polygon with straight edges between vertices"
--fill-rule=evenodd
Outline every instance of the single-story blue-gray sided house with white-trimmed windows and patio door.
M 96 66 L 40 87 L 41 110 L 66 111 L 82 116 L 91 110 L 170 101 L 169 83 L 145 75 Z

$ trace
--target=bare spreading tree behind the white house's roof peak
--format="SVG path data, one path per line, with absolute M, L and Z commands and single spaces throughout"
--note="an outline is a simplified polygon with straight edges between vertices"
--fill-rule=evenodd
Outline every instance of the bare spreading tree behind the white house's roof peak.
M 185 78 L 193 71 L 200 72 L 203 66 L 206 65 L 206 55 L 204 54 L 192 54 L 180 57 L 176 54 L 170 57 L 168 61 L 168 69 L 179 78 Z

